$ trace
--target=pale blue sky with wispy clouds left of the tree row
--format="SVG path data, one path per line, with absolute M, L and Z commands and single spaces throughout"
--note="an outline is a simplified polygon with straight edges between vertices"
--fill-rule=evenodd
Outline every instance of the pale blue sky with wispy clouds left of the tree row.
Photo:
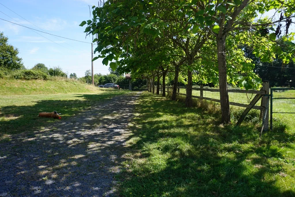
M 78 26 L 83 20 L 90 19 L 88 5 L 97 5 L 97 0 L 0 0 L 12 11 L 24 17 L 46 32 L 75 40 L 91 42 L 92 36 L 85 39 L 85 27 Z M 0 4 L 0 18 L 19 22 L 34 29 L 30 24 Z M 16 22 L 16 21 L 17 22 Z M 65 72 L 76 73 L 79 77 L 91 69 L 91 44 L 55 38 L 41 32 L 37 33 L 9 22 L 0 20 L 0 32 L 9 38 L 9 44 L 19 49 L 19 57 L 26 68 L 36 63 L 44 63 L 48 68 L 60 66 Z M 95 46 L 95 45 L 94 45 Z M 94 55 L 95 56 L 95 55 Z M 107 74 L 108 66 L 101 59 L 94 61 L 94 73 Z

